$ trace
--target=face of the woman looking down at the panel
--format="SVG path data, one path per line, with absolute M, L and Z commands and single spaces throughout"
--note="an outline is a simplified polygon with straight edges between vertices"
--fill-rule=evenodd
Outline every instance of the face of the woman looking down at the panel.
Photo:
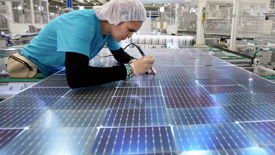
M 121 22 L 118 25 L 112 24 L 111 36 L 116 42 L 131 38 L 134 32 L 137 32 L 142 26 L 141 21 Z

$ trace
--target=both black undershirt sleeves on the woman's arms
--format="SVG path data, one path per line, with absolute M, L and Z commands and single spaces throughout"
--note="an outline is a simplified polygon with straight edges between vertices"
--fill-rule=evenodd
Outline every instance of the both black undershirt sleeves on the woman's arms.
M 116 51 L 111 51 L 111 53 Z M 131 59 L 135 59 L 125 51 L 115 54 L 114 57 L 119 63 L 129 63 Z M 89 66 L 89 57 L 75 52 L 66 52 L 65 67 L 66 78 L 70 88 L 97 86 L 125 80 L 127 74 L 123 64 L 112 67 L 93 67 Z

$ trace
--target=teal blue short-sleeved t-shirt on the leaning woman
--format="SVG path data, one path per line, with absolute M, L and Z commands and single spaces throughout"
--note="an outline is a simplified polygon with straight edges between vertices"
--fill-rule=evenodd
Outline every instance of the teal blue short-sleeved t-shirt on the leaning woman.
M 64 69 L 65 52 L 84 54 L 91 60 L 105 42 L 113 51 L 121 47 L 110 35 L 103 40 L 101 21 L 93 9 L 75 10 L 50 21 L 20 55 L 50 75 Z

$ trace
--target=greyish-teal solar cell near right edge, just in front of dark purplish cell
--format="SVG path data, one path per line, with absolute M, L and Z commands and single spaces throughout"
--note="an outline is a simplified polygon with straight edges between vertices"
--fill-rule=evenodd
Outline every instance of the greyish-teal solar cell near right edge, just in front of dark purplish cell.
M 221 106 L 271 104 L 260 94 L 221 94 L 212 96 Z

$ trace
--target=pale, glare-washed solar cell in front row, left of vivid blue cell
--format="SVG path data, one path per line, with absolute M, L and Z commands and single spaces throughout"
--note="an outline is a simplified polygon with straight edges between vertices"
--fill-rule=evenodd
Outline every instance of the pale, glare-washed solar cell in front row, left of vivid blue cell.
M 28 129 L 12 139 L 0 154 L 89 154 L 97 131 L 91 127 Z

